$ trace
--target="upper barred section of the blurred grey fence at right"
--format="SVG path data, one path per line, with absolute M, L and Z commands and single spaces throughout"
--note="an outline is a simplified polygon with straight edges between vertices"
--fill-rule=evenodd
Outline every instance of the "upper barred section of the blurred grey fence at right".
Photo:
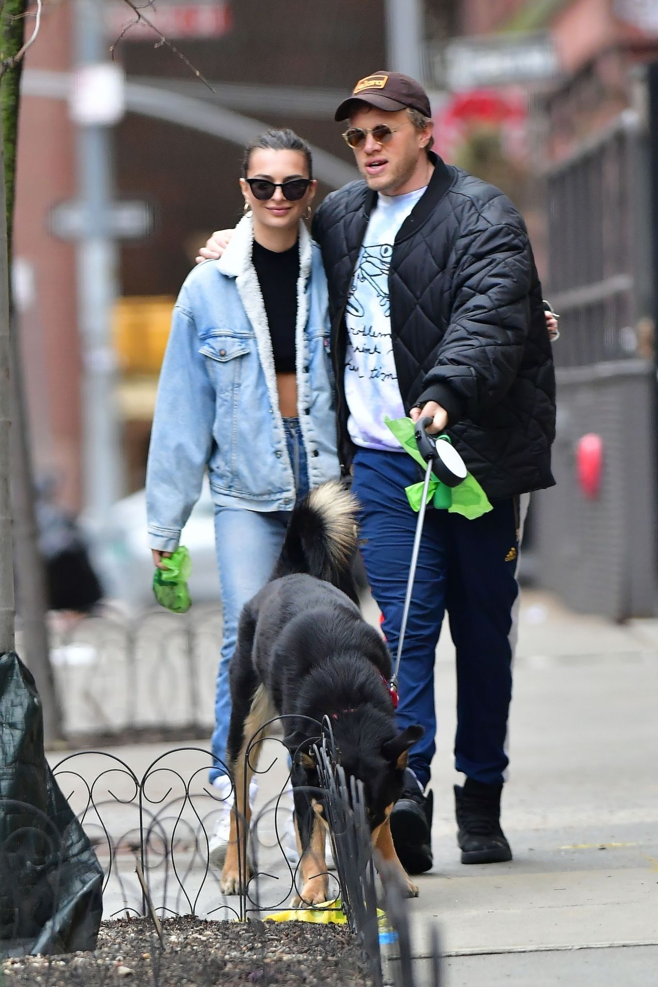
M 546 175 L 548 297 L 561 316 L 558 368 L 638 355 L 648 262 L 647 209 L 636 185 L 645 138 L 622 113 Z

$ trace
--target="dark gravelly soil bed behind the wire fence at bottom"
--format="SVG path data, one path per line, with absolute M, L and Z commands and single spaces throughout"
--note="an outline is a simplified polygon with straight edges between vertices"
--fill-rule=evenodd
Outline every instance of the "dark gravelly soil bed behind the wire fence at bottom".
M 4 985 L 372 987 L 363 949 L 345 926 L 185 916 L 163 922 L 163 931 L 164 951 L 148 919 L 104 922 L 94 952 L 4 960 Z

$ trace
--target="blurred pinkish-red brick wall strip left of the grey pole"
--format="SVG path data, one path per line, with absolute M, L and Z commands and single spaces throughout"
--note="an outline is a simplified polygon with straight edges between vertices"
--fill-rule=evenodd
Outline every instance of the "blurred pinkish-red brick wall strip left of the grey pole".
M 70 63 L 68 4 L 46 3 L 27 68 Z M 30 29 L 29 29 L 30 30 Z M 62 101 L 24 96 L 18 147 L 14 252 L 34 271 L 35 297 L 21 315 L 23 362 L 37 473 L 61 478 L 62 499 L 80 503 L 80 354 L 74 250 L 47 229 L 47 213 L 75 189 L 73 133 Z

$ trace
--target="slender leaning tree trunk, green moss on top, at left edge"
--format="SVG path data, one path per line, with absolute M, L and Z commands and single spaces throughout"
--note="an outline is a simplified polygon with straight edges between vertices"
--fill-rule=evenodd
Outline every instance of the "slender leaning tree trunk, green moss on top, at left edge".
M 0 48 L 2 58 L 11 58 L 20 51 L 26 34 L 25 13 L 28 0 L 4 0 L 0 18 Z M 32 22 L 28 21 L 30 27 Z M 2 146 L 4 155 L 4 196 L 6 202 L 6 228 L 4 272 L 0 270 L 0 293 L 6 292 L 7 318 L 12 311 L 11 281 L 9 277 L 12 256 L 12 230 L 16 187 L 16 147 L 20 105 L 21 63 L 4 71 L 0 80 L 0 106 L 2 111 Z M 0 202 L 2 196 L 0 195 Z M 0 246 L 0 250 L 2 247 Z M 4 309 L 0 298 L 0 318 Z M 8 328 L 9 334 L 9 328 Z M 9 463 L 0 459 L 0 476 L 11 477 L 11 505 L 13 508 L 13 545 L 15 548 L 18 609 L 21 615 L 25 658 L 33 672 L 43 709 L 43 738 L 46 745 L 62 737 L 61 709 L 56 692 L 54 675 L 49 659 L 48 633 L 45 622 L 46 593 L 43 562 L 38 551 L 37 522 L 35 517 L 35 485 L 28 428 L 19 327 L 12 319 L 8 345 L 10 384 L 10 414 L 12 418 L 9 443 Z M 0 355 L 0 361 L 5 353 Z M 4 366 L 0 362 L 0 368 Z M 4 517 L 4 511 L 2 511 Z M 11 526 L 11 518 L 9 520 Z M 0 540 L 0 545 L 4 543 Z M 9 558 L 3 551 L 3 559 Z M 8 567 L 11 568 L 11 567 Z M 13 624 L 13 620 L 12 620 Z

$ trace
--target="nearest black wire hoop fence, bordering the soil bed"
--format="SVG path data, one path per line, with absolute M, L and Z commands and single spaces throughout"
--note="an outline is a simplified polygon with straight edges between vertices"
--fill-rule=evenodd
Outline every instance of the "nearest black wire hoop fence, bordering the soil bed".
M 104 871 L 106 919 L 191 915 L 257 922 L 281 917 L 290 908 L 302 880 L 283 838 L 292 822 L 292 800 L 280 725 L 267 724 L 266 735 L 260 732 L 251 744 L 260 747 L 259 786 L 251 827 L 242 827 L 240 855 L 243 868 L 250 862 L 251 876 L 245 879 L 243 871 L 240 893 L 230 896 L 222 891 L 221 873 L 211 866 L 209 847 L 219 817 L 233 804 L 235 787 L 232 781 L 232 792 L 224 797 L 208 783 L 212 758 L 207 751 L 177 747 L 140 776 L 107 751 L 77 752 L 59 761 L 53 769 L 57 783 Z M 375 987 L 385 982 L 413 987 L 406 902 L 395 882 L 378 883 L 362 787 L 345 778 L 336 764 L 327 721 L 318 724 L 316 758 L 335 866 L 328 872 L 327 907 L 358 936 Z M 309 795 L 318 793 L 315 789 Z M 42 908 L 35 895 L 42 897 L 43 887 L 52 905 L 58 875 L 67 863 L 61 860 L 61 842 L 48 842 L 47 820 L 39 822 L 33 806 L 24 806 L 22 813 L 20 828 L 0 842 L 0 864 L 6 875 L 13 874 L 4 882 L 2 904 L 10 913 L 14 910 L 17 921 L 22 909 Z M 33 852 L 37 843 L 38 853 Z M 386 917 L 378 911 L 378 898 Z M 439 975 L 436 947 L 432 978 L 423 983 L 436 987 Z

